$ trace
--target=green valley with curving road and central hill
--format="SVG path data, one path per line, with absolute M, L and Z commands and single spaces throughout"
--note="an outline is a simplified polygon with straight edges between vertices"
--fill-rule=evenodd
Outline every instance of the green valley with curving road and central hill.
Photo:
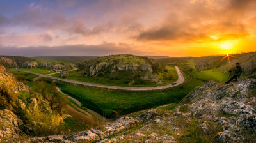
M 106 66 L 107 68 L 96 68 L 100 67 L 99 65 L 102 62 L 106 63 L 106 61 L 109 60 L 111 62 L 113 58 L 114 60 L 116 58 L 118 63 L 112 64 L 114 66 L 109 66 L 110 69 L 115 70 L 115 67 L 116 69 L 118 69 L 118 67 L 124 67 L 124 69 L 127 69 L 127 71 L 125 71 L 126 73 L 123 73 L 123 70 L 117 70 L 116 75 L 113 75 L 111 70 L 109 72 L 108 66 Z M 17 80 L 24 82 L 24 84 L 30 86 L 37 92 L 38 85 L 43 85 L 42 83 L 48 86 L 56 86 L 56 91 L 66 99 L 67 105 L 65 105 L 64 109 L 65 113 L 69 114 L 70 117 L 63 119 L 64 124 L 61 125 L 63 126 L 61 130 L 66 130 L 65 132 L 68 133 L 102 126 L 102 124 L 110 123 L 120 117 L 136 117 L 154 108 L 157 110 L 173 110 L 175 107 L 179 106 L 180 101 L 196 87 L 202 86 L 205 82 L 210 80 L 220 83 L 227 80 L 228 73 L 226 71 L 230 69 L 228 67 L 230 67 L 229 65 L 231 63 L 220 63 L 207 68 L 201 66 L 203 69 L 196 69 L 199 65 L 198 63 L 202 63 L 205 57 L 202 59 L 198 59 L 197 57 L 183 58 L 179 59 L 178 63 L 176 62 L 177 59 L 169 57 L 164 59 L 157 58 L 154 61 L 150 59 L 151 63 L 158 63 L 156 64 L 158 65 L 156 69 L 153 70 L 152 68 L 152 70 L 147 70 L 147 72 L 143 73 L 143 71 L 140 70 L 141 68 L 134 68 L 134 65 L 140 65 L 140 63 L 147 65 L 148 63 L 143 61 L 145 60 L 143 59 L 144 57 L 142 59 L 140 59 L 141 57 L 136 57 L 138 59 L 135 58 L 131 61 L 132 58 L 134 58 L 134 56 L 130 55 L 106 56 L 90 59 L 89 61 L 67 64 L 58 63 L 57 61 L 47 61 L 46 64 L 42 64 L 41 62 L 45 61 L 33 59 L 39 62 L 37 66 L 41 66 L 36 67 L 36 64 L 32 64 L 31 66 L 31 64 L 26 65 L 24 63 L 20 63 L 20 66 L 9 64 L 8 72 L 11 72 L 16 76 Z M 146 60 L 148 59 L 146 58 Z M 168 62 L 166 63 L 166 61 Z M 28 61 L 25 62 L 30 63 Z M 232 63 L 234 62 L 235 61 L 232 60 Z M 86 68 L 86 66 L 84 66 L 87 64 L 96 69 L 96 74 L 101 73 L 96 76 L 94 75 L 94 77 L 83 75 L 82 73 L 85 73 L 86 70 L 81 70 L 81 67 L 89 69 L 90 67 Z M 26 65 L 27 68 L 24 68 L 24 65 Z M 53 66 L 48 66 L 47 68 L 42 65 Z M 58 71 L 60 65 L 63 68 Z M 129 70 L 129 66 L 122 65 L 132 65 L 132 68 Z M 163 70 L 159 70 L 158 68 L 163 68 Z M 63 71 L 67 71 L 68 75 L 66 77 L 60 77 L 60 73 Z M 104 74 L 102 74 L 102 72 L 104 72 Z M 90 70 L 89 73 L 91 74 L 92 70 Z M 138 79 L 137 77 L 129 75 L 134 75 L 134 73 L 139 73 L 138 75 L 142 77 Z M 113 76 L 125 74 L 128 75 L 124 79 L 111 79 Z M 172 78 L 164 80 L 163 77 L 166 74 L 171 75 L 170 77 Z M 162 82 L 154 83 L 156 80 L 144 79 L 145 75 L 147 75 L 147 78 L 155 76 L 153 79 L 157 78 L 156 80 L 161 80 Z M 242 77 L 244 76 L 246 76 L 246 74 Z M 131 80 L 134 80 L 136 84 L 129 84 L 129 82 L 127 84 L 127 82 L 125 82 Z M 142 80 L 145 80 L 145 82 L 140 82 Z M 173 84 L 174 82 L 175 84 Z

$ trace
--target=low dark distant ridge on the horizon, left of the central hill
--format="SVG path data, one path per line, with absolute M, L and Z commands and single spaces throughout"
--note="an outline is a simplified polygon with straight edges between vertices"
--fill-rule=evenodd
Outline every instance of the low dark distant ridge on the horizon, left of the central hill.
M 65 62 L 77 62 L 94 59 L 98 56 L 38 56 L 37 59 L 44 59 L 49 61 L 65 61 Z

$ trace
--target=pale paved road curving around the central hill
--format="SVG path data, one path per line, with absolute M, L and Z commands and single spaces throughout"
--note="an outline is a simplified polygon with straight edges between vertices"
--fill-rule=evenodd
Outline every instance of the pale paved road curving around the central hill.
M 51 77 L 49 75 L 42 75 L 39 73 L 34 73 L 34 72 L 29 72 L 29 71 L 20 71 L 20 72 L 28 72 L 28 73 L 32 73 L 35 75 L 39 75 L 42 77 L 49 77 L 51 79 L 55 79 L 61 82 L 67 82 L 70 84 L 77 84 L 79 86 L 91 86 L 91 87 L 100 87 L 100 88 L 107 88 L 107 89 L 117 89 L 117 90 L 125 90 L 125 91 L 154 91 L 154 90 L 162 90 L 162 89 L 169 89 L 171 87 L 175 87 L 175 86 L 179 86 L 180 84 L 183 84 L 184 82 L 186 82 L 186 78 L 184 77 L 183 73 L 180 71 L 180 69 L 175 66 L 177 75 L 178 75 L 178 80 L 176 81 L 175 85 L 172 84 L 168 84 L 166 86 L 155 86 L 155 87 L 121 87 L 121 86 L 108 86 L 108 85 L 102 85 L 102 84 L 92 84 L 92 83 L 88 83 L 88 82 L 79 82 L 79 81 L 75 81 L 75 80 L 68 80 L 68 79 L 61 79 L 58 77 Z M 10 71 L 10 72 L 14 72 L 14 71 Z

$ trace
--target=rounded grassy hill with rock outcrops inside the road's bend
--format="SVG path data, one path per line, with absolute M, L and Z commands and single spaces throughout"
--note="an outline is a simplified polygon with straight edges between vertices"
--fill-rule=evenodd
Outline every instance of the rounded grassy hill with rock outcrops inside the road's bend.
M 164 79 L 157 77 L 159 73 L 165 73 L 166 79 L 168 78 L 168 70 L 165 66 L 142 56 L 111 55 L 97 57 L 80 63 L 77 67 L 84 76 L 122 80 L 127 84 L 141 84 L 143 82 L 162 84 Z

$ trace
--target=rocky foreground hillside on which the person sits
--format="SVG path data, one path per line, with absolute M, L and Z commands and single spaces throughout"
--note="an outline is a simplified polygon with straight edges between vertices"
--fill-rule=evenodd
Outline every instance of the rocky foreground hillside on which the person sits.
M 255 78 L 255 75 L 252 75 Z M 196 87 L 179 106 L 121 117 L 83 132 L 24 142 L 256 142 L 256 79 Z

